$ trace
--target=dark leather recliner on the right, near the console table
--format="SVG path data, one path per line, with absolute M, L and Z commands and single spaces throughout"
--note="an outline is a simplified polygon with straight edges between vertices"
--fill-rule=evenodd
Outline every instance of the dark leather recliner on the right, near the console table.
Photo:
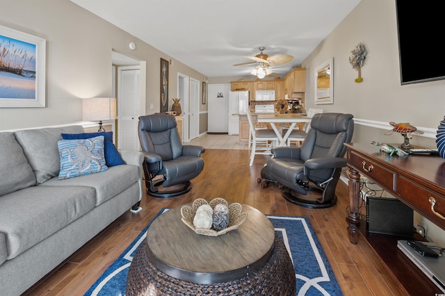
M 300 147 L 277 147 L 272 150 L 273 158 L 261 170 L 261 181 L 277 181 L 280 188 L 289 188 L 284 188 L 283 197 L 293 204 L 308 208 L 334 206 L 341 167 L 346 167 L 346 158 L 343 157 L 346 147 L 343 143 L 350 142 L 353 132 L 353 115 L 314 115 L 311 129 Z M 301 196 L 313 189 L 321 190 L 323 196 L 315 200 Z

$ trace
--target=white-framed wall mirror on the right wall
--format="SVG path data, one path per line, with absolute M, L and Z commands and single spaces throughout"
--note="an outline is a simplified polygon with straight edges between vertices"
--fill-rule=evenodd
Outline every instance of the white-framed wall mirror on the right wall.
M 334 58 L 315 69 L 315 104 L 334 104 Z

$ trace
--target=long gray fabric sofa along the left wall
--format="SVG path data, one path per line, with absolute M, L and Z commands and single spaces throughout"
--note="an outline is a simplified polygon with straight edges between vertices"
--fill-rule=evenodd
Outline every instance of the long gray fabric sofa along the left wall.
M 82 126 L 0 132 L 0 295 L 20 295 L 142 197 L 143 154 L 59 179 L 58 141 Z

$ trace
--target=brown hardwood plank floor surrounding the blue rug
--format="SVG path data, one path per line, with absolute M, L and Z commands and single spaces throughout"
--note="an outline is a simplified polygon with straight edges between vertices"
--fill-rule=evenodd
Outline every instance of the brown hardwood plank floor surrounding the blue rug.
M 233 137 L 230 141 L 236 142 Z M 168 199 L 145 194 L 140 213 L 124 213 L 24 295 L 83 295 L 161 208 L 180 206 L 199 197 L 223 197 L 254 206 L 264 214 L 309 217 L 344 295 L 407 295 L 364 240 L 350 244 L 345 220 L 348 206 L 345 183 L 339 182 L 338 202 L 332 208 L 302 208 L 287 202 L 276 184 L 261 188 L 257 183 L 269 156 L 255 157 L 250 167 L 247 149 L 212 149 L 209 143 L 215 145 L 218 140 L 213 136 L 208 139 L 209 142 L 199 139 L 199 145 L 210 148 L 202 154 L 204 171 L 193 179 L 190 192 Z

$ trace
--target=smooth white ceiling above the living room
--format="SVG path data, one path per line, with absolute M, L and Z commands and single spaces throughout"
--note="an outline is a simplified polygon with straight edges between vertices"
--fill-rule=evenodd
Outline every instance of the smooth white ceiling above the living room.
M 284 75 L 360 0 L 71 0 L 208 77 L 249 75 L 244 56 L 289 54 Z M 137 47 L 137 44 L 136 44 Z

